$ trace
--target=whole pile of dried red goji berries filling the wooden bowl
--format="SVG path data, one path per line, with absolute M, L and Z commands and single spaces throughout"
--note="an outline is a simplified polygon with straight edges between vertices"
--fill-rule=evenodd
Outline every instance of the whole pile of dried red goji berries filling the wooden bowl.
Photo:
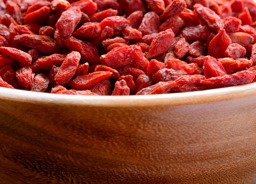
M 0 86 L 149 95 L 256 80 L 253 0 L 0 0 Z

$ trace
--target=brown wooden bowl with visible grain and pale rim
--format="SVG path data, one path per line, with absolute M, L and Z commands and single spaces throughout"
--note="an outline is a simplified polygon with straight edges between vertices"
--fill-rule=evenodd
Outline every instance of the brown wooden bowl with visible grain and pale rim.
M 147 96 L 0 88 L 1 184 L 253 184 L 256 83 Z

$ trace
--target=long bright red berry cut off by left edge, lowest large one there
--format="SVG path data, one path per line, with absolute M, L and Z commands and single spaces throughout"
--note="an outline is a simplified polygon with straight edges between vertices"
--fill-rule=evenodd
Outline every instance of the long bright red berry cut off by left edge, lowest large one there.
M 31 55 L 11 47 L 0 47 L 2 55 L 7 55 L 20 62 L 20 66 L 29 66 L 32 63 Z

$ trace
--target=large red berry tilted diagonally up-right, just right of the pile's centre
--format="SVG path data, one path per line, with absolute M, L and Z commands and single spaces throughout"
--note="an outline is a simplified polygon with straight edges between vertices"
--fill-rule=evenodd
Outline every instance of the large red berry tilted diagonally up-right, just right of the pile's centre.
M 148 48 L 147 58 L 150 59 L 166 52 L 170 48 L 173 38 L 172 29 L 158 33 Z

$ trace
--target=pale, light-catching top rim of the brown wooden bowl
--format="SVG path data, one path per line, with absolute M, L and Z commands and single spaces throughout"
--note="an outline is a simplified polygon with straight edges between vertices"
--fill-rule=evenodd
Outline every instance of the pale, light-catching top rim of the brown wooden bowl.
M 31 92 L 0 87 L 0 101 L 58 103 L 74 106 L 178 106 L 214 103 L 256 95 L 256 82 L 220 89 L 160 95 L 82 96 Z

